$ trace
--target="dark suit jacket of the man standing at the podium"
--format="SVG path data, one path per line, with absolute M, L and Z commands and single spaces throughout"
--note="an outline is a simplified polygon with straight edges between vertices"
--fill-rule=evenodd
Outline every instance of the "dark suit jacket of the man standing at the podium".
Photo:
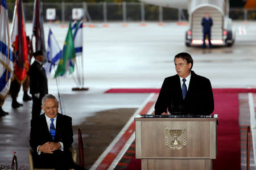
M 162 114 L 167 111 L 167 108 L 171 114 L 180 112 L 210 115 L 214 110 L 214 100 L 209 79 L 191 71 L 191 79 L 184 100 L 179 75 L 164 79 L 158 100 L 156 100 L 155 114 Z

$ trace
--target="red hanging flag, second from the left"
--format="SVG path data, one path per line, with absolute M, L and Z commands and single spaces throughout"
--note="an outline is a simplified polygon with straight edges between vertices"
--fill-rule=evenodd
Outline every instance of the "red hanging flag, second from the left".
M 16 0 L 15 2 L 12 28 L 11 42 L 14 47 L 14 73 L 16 80 L 21 84 L 26 78 L 29 66 L 22 0 Z

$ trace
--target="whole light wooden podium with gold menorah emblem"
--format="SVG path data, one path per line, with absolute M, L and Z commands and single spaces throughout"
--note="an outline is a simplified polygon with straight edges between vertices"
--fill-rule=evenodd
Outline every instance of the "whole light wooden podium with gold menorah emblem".
M 217 115 L 136 117 L 136 159 L 141 159 L 142 170 L 212 169 L 217 119 Z

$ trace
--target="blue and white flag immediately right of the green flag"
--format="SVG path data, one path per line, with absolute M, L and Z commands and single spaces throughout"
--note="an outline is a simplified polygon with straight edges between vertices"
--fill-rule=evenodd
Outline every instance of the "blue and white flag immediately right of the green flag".
M 82 56 L 82 20 L 75 20 L 71 27 L 76 57 Z

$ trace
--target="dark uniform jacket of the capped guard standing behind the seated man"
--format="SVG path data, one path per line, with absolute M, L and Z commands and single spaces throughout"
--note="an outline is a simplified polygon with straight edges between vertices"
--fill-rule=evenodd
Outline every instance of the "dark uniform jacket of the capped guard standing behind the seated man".
M 39 62 L 34 61 L 30 66 L 30 94 L 40 93 L 42 98 L 48 94 L 47 77 L 44 67 Z

